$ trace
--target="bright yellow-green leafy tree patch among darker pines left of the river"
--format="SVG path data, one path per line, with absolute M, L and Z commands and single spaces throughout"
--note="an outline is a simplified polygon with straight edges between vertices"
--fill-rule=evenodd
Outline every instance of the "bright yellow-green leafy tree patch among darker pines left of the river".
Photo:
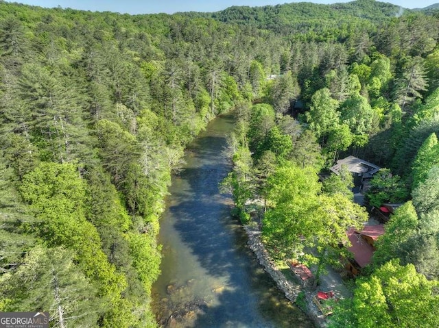
M 73 164 L 42 163 L 25 175 L 20 190 L 41 219 L 38 236 L 49 246 L 75 250 L 86 276 L 99 281 L 101 294 L 117 299 L 126 281 L 108 264 L 96 228 L 85 219 L 86 186 L 78 169 Z

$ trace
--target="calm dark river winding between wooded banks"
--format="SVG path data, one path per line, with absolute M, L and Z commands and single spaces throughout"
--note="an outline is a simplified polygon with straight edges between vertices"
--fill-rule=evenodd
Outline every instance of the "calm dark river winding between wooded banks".
M 246 247 L 229 196 L 218 183 L 231 171 L 224 155 L 233 116 L 215 118 L 189 145 L 173 177 L 158 236 L 162 274 L 152 289 L 163 327 L 313 327 L 276 288 Z

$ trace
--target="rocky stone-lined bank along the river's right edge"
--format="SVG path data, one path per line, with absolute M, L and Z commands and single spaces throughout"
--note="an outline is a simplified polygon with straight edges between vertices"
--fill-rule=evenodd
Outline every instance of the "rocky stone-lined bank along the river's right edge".
M 265 268 L 265 271 L 272 277 L 276 286 L 285 294 L 285 297 L 292 303 L 295 303 L 300 293 L 305 294 L 306 309 L 302 310 L 304 310 L 305 314 L 313 321 L 316 327 L 327 327 L 327 320 L 312 300 L 313 294 L 316 294 L 316 290 L 302 287 L 298 283 L 293 283 L 285 277 L 265 249 L 261 240 L 261 231 L 257 225 L 244 225 L 244 229 L 248 236 L 248 247 L 257 256 L 259 264 Z

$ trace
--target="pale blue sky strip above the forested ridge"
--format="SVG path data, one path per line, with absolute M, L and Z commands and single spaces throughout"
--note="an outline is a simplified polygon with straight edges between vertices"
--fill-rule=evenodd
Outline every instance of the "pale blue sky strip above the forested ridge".
M 276 5 L 280 3 L 300 2 L 300 1 L 283 1 L 283 0 L 223 0 L 223 1 L 204 1 L 204 0 L 18 0 L 9 2 L 25 3 L 27 5 L 38 5 L 45 8 L 54 8 L 60 5 L 62 8 L 73 8 L 79 10 L 91 11 L 110 11 L 128 14 L 155 14 L 165 12 L 173 14 L 174 12 L 215 12 L 224 10 L 232 5 Z M 403 8 L 424 8 L 428 5 L 438 2 L 439 0 L 390 0 L 394 5 L 401 5 Z M 313 3 L 335 3 L 348 2 L 345 0 L 313 0 Z

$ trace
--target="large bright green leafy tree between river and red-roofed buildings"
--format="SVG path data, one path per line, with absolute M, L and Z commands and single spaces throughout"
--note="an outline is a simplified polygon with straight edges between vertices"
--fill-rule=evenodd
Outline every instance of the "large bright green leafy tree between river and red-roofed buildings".
M 305 247 L 317 247 L 320 264 L 338 259 L 338 245 L 346 242 L 346 230 L 364 223 L 367 216 L 347 192 L 349 181 L 340 182 L 342 188 L 329 188 L 329 184 L 325 187 L 331 193 L 319 194 L 322 186 L 311 166 L 278 167 L 268 177 L 268 210 L 262 230 L 265 241 L 293 258 L 302 257 Z M 323 254 L 326 258 L 320 256 Z

